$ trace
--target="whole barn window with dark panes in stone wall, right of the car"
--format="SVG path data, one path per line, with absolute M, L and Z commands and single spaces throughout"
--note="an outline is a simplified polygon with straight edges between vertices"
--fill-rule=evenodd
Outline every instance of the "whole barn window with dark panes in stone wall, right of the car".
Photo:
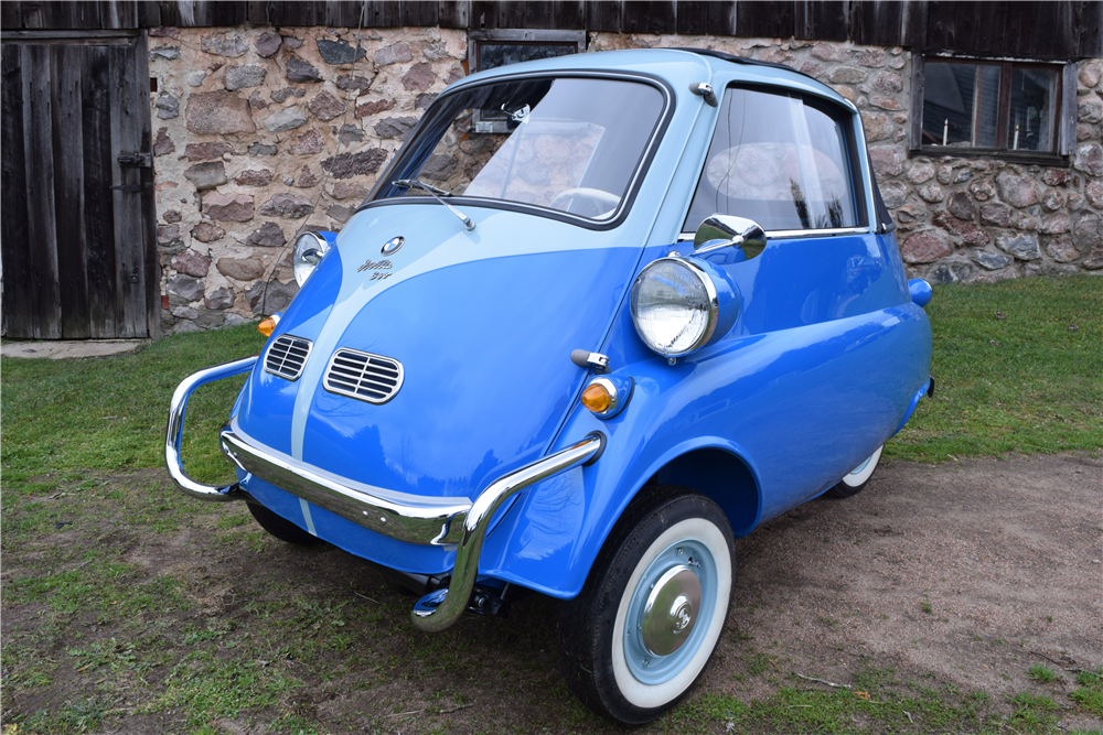
M 1072 152 L 1073 64 L 917 56 L 913 75 L 913 109 L 922 110 L 912 122 L 913 151 L 1008 159 Z

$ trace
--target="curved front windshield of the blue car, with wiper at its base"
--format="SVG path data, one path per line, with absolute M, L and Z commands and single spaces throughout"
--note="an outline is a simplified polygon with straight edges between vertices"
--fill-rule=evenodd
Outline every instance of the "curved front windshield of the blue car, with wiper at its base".
M 453 196 L 610 220 L 662 112 L 658 89 L 628 80 L 537 77 L 464 89 L 432 106 L 375 198 L 428 196 L 390 185 L 417 179 Z

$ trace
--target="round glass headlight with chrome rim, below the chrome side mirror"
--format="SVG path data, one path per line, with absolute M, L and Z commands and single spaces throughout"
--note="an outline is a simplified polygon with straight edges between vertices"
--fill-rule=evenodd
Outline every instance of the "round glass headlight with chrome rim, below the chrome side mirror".
M 713 279 L 696 263 L 661 258 L 632 287 L 632 321 L 640 338 L 667 357 L 703 347 L 716 329 L 718 303 Z

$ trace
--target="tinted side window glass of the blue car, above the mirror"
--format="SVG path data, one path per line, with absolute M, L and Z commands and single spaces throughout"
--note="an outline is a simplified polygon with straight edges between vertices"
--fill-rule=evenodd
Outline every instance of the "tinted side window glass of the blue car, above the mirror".
M 714 214 L 753 219 L 768 231 L 857 227 L 853 149 L 842 121 L 823 108 L 729 87 L 682 231 Z

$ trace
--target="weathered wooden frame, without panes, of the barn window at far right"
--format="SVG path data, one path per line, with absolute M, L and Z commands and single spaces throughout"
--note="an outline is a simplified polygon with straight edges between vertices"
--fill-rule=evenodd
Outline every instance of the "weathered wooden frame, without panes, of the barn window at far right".
M 1048 69 L 1057 72 L 1057 105 L 1054 109 L 1057 147 L 1054 151 L 1015 151 L 1008 148 L 963 148 L 959 145 L 931 145 L 923 143 L 923 100 L 925 97 L 927 63 L 976 64 L 998 66 L 999 107 L 996 139 L 1007 140 L 1010 125 L 1011 73 L 1016 68 Z M 928 158 L 953 156 L 960 159 L 996 159 L 1019 163 L 1068 166 L 1077 144 L 1077 63 L 1042 62 L 1027 58 L 970 56 L 961 54 L 921 54 L 911 60 L 911 126 L 908 155 Z

